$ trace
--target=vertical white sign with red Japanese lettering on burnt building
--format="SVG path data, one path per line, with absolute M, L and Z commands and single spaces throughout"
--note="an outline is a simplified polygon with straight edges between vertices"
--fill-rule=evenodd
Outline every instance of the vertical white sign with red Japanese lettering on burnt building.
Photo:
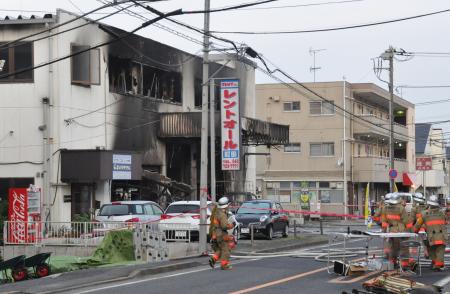
M 239 80 L 222 80 L 220 82 L 220 100 L 222 170 L 239 170 L 241 168 Z

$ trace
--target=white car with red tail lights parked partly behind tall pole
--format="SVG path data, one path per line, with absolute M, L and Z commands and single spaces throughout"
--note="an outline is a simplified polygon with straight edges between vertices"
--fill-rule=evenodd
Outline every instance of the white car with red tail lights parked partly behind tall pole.
M 207 227 L 209 231 L 213 203 L 207 202 Z M 171 203 L 159 222 L 167 241 L 198 241 L 200 236 L 200 201 L 175 201 Z

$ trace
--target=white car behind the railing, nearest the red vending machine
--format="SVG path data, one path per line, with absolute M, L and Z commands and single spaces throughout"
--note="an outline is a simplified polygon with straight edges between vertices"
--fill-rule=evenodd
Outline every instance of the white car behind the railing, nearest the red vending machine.
M 103 204 L 98 222 L 151 222 L 161 219 L 162 208 L 153 201 L 116 201 Z

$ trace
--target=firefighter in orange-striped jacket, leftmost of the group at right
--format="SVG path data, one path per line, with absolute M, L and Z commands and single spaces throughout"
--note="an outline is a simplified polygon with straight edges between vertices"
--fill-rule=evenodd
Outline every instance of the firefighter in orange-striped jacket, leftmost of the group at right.
M 381 227 L 386 233 L 404 233 L 410 232 L 413 224 L 403 206 L 401 199 L 395 193 L 392 193 L 386 201 L 383 214 L 381 215 Z M 385 253 L 389 256 L 389 261 L 398 267 L 398 256 L 400 252 L 400 242 L 404 238 L 389 238 L 388 246 L 385 248 Z M 406 260 L 406 266 L 409 261 Z

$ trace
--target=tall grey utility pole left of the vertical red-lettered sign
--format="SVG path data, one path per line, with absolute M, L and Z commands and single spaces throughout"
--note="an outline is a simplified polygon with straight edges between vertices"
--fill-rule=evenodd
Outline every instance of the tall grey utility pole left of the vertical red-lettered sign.
M 203 36 L 202 132 L 200 146 L 200 236 L 199 253 L 207 251 L 206 210 L 208 200 L 208 79 L 209 79 L 209 0 L 205 0 Z M 211 150 L 214 152 L 214 150 Z

